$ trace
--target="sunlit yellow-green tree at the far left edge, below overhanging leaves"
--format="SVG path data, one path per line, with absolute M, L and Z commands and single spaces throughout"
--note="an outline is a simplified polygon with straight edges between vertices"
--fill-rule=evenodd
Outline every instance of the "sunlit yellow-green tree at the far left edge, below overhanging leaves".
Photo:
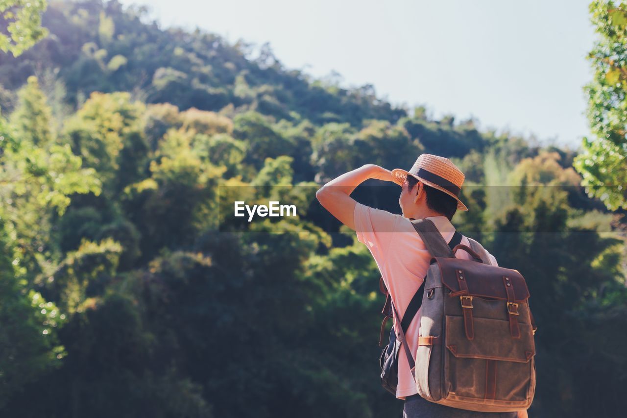
M 32 88 L 38 97 L 33 86 L 36 82 L 27 91 Z M 46 114 L 45 107 L 40 110 L 38 115 Z M 43 126 L 24 129 L 18 123 L 13 129 L 0 117 L 0 407 L 24 385 L 60 366 L 65 350 L 57 330 L 66 315 L 34 290 L 34 278 L 47 259 L 58 256 L 50 245 L 54 212 L 63 213 L 73 193 L 99 193 L 93 171 L 81 168 L 69 146 L 46 141 L 45 134 L 37 137 L 41 146 L 33 144 L 28 132 L 48 128 L 46 117 L 37 120 Z M 23 141 L 15 139 L 19 129 L 24 129 Z

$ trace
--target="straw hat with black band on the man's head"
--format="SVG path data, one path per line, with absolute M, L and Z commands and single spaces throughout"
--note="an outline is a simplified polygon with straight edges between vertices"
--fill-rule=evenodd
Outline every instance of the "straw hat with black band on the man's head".
M 455 198 L 459 210 L 468 210 L 458 198 L 461 185 L 464 184 L 464 173 L 450 159 L 433 154 L 420 154 L 409 171 L 400 168 L 392 170 L 394 183 L 399 186 L 403 186 L 408 175 Z

